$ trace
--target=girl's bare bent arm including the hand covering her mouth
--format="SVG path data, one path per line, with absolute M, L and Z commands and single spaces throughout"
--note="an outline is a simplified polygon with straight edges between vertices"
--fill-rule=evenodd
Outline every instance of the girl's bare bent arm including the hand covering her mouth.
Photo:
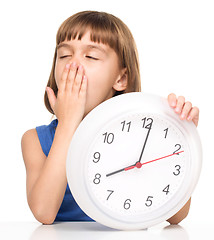
M 83 75 L 83 69 L 65 68 L 57 98 L 51 88 L 47 89 L 49 102 L 58 119 L 48 157 L 42 152 L 35 129 L 22 137 L 28 204 L 35 218 L 44 224 L 55 220 L 66 190 L 67 151 L 85 112 L 87 81 L 85 78 L 83 81 Z

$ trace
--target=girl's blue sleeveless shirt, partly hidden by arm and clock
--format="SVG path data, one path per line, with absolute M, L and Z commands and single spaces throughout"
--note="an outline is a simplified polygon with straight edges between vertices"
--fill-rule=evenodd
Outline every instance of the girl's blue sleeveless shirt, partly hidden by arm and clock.
M 49 125 L 36 127 L 42 150 L 48 156 L 51 149 L 58 120 L 53 120 Z M 56 221 L 94 221 L 87 216 L 74 200 L 67 184 L 65 195 L 57 213 Z

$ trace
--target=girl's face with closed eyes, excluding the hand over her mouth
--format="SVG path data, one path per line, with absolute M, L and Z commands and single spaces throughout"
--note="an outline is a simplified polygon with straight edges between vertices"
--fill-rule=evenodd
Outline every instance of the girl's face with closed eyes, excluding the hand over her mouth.
M 116 52 L 108 45 L 92 42 L 90 31 L 81 40 L 59 44 L 55 66 L 57 87 L 68 62 L 81 64 L 88 79 L 85 115 L 127 86 L 126 69 L 120 69 Z

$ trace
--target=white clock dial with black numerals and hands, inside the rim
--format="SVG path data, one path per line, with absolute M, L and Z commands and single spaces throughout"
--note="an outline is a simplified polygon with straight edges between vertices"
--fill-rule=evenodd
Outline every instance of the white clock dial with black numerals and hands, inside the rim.
M 129 113 L 103 126 L 91 143 L 85 183 L 101 211 L 140 222 L 178 194 L 190 151 L 175 122 L 158 114 Z

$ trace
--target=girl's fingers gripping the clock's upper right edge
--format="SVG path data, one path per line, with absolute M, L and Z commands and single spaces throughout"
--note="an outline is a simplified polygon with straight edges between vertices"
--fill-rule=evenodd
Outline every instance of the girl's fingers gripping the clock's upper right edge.
M 174 108 L 175 113 L 180 115 L 182 120 L 193 121 L 195 126 L 198 126 L 199 109 L 192 107 L 191 102 L 185 102 L 183 96 L 176 97 L 174 93 L 168 95 L 169 105 Z

